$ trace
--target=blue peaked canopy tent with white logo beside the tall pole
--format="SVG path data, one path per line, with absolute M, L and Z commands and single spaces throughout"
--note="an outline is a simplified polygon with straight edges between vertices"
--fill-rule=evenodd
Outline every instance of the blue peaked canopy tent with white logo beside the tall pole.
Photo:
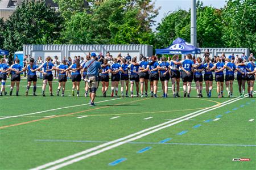
M 172 45 L 164 49 L 156 49 L 156 54 L 200 54 L 201 50 L 181 38 L 177 38 Z

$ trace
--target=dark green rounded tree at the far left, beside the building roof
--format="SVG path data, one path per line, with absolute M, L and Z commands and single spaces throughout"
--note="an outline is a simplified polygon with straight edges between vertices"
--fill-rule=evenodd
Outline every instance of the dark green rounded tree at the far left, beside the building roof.
M 63 19 L 44 1 L 23 1 L 6 21 L 4 47 L 11 52 L 23 44 L 53 44 L 60 39 Z

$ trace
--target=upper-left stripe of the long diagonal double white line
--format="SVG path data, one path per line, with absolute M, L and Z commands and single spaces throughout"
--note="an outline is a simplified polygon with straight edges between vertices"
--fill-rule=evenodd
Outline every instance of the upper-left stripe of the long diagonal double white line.
M 127 135 L 126 137 L 122 137 L 122 138 L 119 138 L 119 139 L 115 139 L 114 141 L 110 141 L 110 142 L 104 143 L 104 144 L 102 144 L 102 145 L 98 145 L 98 146 L 96 146 L 96 147 L 89 148 L 89 149 L 87 149 L 87 150 L 78 152 L 78 153 L 73 154 L 73 155 L 69 155 L 69 156 L 67 156 L 67 157 L 65 157 L 65 158 L 61 158 L 61 159 L 55 160 L 55 161 L 53 161 L 53 162 L 49 162 L 49 163 L 44 164 L 44 165 L 40 165 L 39 167 L 32 168 L 32 169 L 34 169 L 34 170 L 35 170 L 35 169 L 44 169 L 44 168 L 50 167 L 50 166 L 52 166 L 52 165 L 56 165 L 56 164 L 59 164 L 59 163 L 63 163 L 63 162 L 65 162 L 66 160 L 76 158 L 77 156 L 81 156 L 81 155 L 87 154 L 87 153 L 89 153 L 89 152 L 98 150 L 98 149 L 100 149 L 100 148 L 102 148 L 102 147 L 109 146 L 109 145 L 112 145 L 112 144 L 117 143 L 117 142 L 121 142 L 121 141 L 123 141 L 123 140 L 125 140 L 125 139 L 129 139 L 129 138 L 134 137 L 134 136 L 136 136 L 136 135 L 139 135 L 139 134 L 142 134 L 142 135 L 143 135 L 143 133 L 146 133 L 146 132 L 149 131 L 149 130 L 156 129 L 156 128 L 159 128 L 159 127 L 161 127 L 161 126 L 166 127 L 166 126 L 164 126 L 164 125 L 168 125 L 168 124 L 171 125 L 171 124 L 170 124 L 171 122 L 175 122 L 175 121 L 180 122 L 179 120 L 184 121 L 184 118 L 192 118 L 192 117 L 188 117 L 188 116 L 191 116 L 191 115 L 192 115 L 192 116 L 193 116 L 193 115 L 196 115 L 196 116 L 197 116 L 198 114 L 196 114 L 196 113 L 201 113 L 201 114 L 203 114 L 203 113 L 205 113 L 205 112 L 211 111 L 212 109 L 210 109 L 210 108 L 215 109 L 215 108 L 218 108 L 218 106 L 219 106 L 219 107 L 222 107 L 222 106 L 224 106 L 224 105 L 226 105 L 226 104 L 229 104 L 229 103 L 231 103 L 231 102 L 233 103 L 234 101 L 241 100 L 241 99 L 243 99 L 243 98 L 240 98 L 240 96 L 239 96 L 239 97 L 237 97 L 237 98 L 230 99 L 230 100 L 228 100 L 228 101 L 224 101 L 223 103 L 221 103 L 222 105 L 216 104 L 216 105 L 213 105 L 212 107 L 208 107 L 208 108 L 205 108 L 205 109 L 201 109 L 201 110 L 199 110 L 199 111 L 196 111 L 196 112 L 192 112 L 192 113 L 186 114 L 185 116 L 181 116 L 181 117 L 179 117 L 179 118 L 175 118 L 174 120 L 167 121 L 167 122 L 164 122 L 164 123 L 159 124 L 159 125 L 156 125 L 156 126 L 152 126 L 152 127 L 150 127 L 150 128 L 147 128 L 147 129 L 138 131 L 137 133 Z M 166 128 L 167 128 L 167 127 L 166 127 Z M 155 132 L 155 131 L 154 131 L 154 132 Z M 154 132 L 153 132 L 153 133 L 154 133 Z M 143 136 L 142 136 L 142 137 L 143 137 Z M 127 142 L 126 142 L 126 143 L 127 143 Z M 124 143 L 121 143 L 121 145 L 122 145 L 122 144 L 124 144 Z M 118 145 L 118 146 L 119 146 L 119 145 Z M 104 151 L 105 151 L 105 150 L 104 150 Z M 85 158 L 84 158 L 84 159 L 85 159 Z M 72 162 L 72 163 L 67 162 L 67 163 L 72 164 L 73 162 Z M 60 165 L 62 165 L 62 164 L 60 164 Z M 65 164 L 65 165 L 66 165 L 66 164 Z M 64 165 L 64 166 L 65 166 L 65 165 Z

